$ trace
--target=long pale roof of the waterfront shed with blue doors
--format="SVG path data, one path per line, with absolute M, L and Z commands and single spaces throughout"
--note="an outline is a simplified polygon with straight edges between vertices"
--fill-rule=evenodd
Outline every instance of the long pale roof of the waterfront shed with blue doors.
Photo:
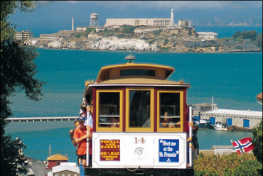
M 214 111 L 205 111 L 203 113 L 262 117 L 262 111 L 249 111 L 249 110 L 242 111 L 242 110 L 232 110 L 232 109 L 216 109 Z

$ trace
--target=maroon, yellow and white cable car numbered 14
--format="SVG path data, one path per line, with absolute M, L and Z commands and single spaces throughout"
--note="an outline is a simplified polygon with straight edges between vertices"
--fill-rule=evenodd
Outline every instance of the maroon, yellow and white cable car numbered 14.
M 86 175 L 193 175 L 190 84 L 168 80 L 173 67 L 125 59 L 85 82 L 81 106 L 92 104 L 93 119 Z

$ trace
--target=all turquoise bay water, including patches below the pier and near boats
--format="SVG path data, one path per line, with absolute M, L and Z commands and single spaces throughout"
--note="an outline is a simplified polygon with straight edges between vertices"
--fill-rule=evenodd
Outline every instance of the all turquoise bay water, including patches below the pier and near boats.
M 225 28 L 222 28 L 222 32 L 227 33 L 224 30 Z M 228 31 L 228 35 L 229 33 Z M 124 57 L 129 54 L 136 57 L 135 62 L 175 67 L 176 72 L 169 79 L 183 80 L 191 84 L 187 92 L 188 104 L 210 103 L 214 97 L 219 109 L 262 111 L 262 106 L 257 104 L 255 99 L 257 94 L 262 92 L 262 52 L 37 51 L 39 56 L 35 60 L 38 66 L 36 77 L 47 82 L 43 87 L 44 96 L 41 101 L 34 102 L 26 99 L 23 92 L 17 92 L 11 97 L 13 117 L 78 116 L 85 80 L 96 79 L 100 67 L 127 62 Z M 14 138 L 22 138 L 27 145 L 24 153 L 32 158 L 46 160 L 51 145 L 51 155 L 68 155 L 69 161 L 75 162 L 75 148 L 68 136 L 70 128 L 73 127 L 73 121 L 35 121 L 9 123 L 5 130 L 6 134 Z M 198 131 L 200 149 L 210 149 L 213 145 L 231 145 L 230 140 L 249 136 L 252 136 L 252 133 Z

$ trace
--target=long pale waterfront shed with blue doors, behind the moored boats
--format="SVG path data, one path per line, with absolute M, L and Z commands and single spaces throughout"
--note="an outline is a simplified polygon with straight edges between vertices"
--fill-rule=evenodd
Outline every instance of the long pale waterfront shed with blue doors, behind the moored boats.
M 211 125 L 220 121 L 227 126 L 251 130 L 262 121 L 262 111 L 218 109 L 217 104 L 193 104 L 193 116 L 198 121 L 207 119 Z

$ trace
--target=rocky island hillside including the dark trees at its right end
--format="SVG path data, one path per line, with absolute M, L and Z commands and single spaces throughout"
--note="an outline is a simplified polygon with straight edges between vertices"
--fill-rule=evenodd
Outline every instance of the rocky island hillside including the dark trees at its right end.
M 67 33 L 61 34 L 61 33 Z M 165 26 L 120 26 L 60 31 L 58 40 L 33 38 L 30 45 L 83 50 L 138 50 L 178 53 L 223 53 L 262 50 L 262 33 L 237 32 L 232 38 L 202 40 L 194 28 Z M 63 36 L 63 37 L 61 37 Z

